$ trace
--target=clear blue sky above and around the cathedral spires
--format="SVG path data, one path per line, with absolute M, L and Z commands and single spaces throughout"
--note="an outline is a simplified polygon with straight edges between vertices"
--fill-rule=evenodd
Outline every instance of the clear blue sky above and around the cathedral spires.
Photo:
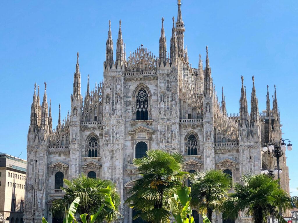
M 80 52 L 82 94 L 87 76 L 91 86 L 103 79 L 108 21 L 114 52 L 119 19 L 127 55 L 143 44 L 158 55 L 161 18 L 170 49 L 175 0 L 153 1 L 2 1 L 0 14 L 0 146 L 1 152 L 26 159 L 27 132 L 34 83 L 52 98 L 53 126 L 70 107 L 76 53 Z M 287 152 L 290 190 L 297 195 L 297 58 L 298 1 L 182 0 L 184 44 L 193 67 L 203 61 L 206 45 L 215 88 L 224 87 L 228 113 L 239 112 L 240 76 L 244 76 L 250 109 L 252 75 L 259 110 L 266 93 L 277 85 L 281 124 L 293 144 Z M 42 98 L 41 95 L 41 98 Z M 271 99 L 272 106 L 272 99 Z

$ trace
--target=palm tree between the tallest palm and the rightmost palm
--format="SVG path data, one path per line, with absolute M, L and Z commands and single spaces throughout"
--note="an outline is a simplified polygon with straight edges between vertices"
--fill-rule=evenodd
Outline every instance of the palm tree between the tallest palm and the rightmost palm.
M 221 170 L 206 169 L 190 174 L 190 182 L 192 206 L 212 219 L 212 212 L 221 209 L 225 195 L 232 187 L 232 177 Z

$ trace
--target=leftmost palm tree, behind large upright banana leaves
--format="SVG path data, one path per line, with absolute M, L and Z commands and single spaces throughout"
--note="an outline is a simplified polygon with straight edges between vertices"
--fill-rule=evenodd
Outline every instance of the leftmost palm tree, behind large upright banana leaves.
M 77 216 L 87 213 L 87 220 L 89 222 L 90 216 L 95 214 L 103 204 L 103 210 L 99 213 L 95 222 L 112 222 L 117 220 L 120 215 L 118 212 L 120 196 L 116 191 L 115 185 L 110 180 L 89 178 L 82 175 L 72 180 L 63 179 L 63 181 L 67 188 L 61 187 L 61 189 L 66 193 L 62 199 L 53 202 L 50 209 L 52 216 L 65 213 L 69 209 L 70 204 L 79 197 L 80 203 L 76 211 Z M 111 199 L 114 207 L 107 199 Z

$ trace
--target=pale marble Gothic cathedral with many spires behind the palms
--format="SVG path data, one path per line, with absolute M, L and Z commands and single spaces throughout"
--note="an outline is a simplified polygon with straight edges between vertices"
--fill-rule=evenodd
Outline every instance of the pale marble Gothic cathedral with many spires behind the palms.
M 49 207 L 52 201 L 63 197 L 62 179 L 79 174 L 117 183 L 122 200 L 119 211 L 124 216 L 120 221 L 135 222 L 132 209 L 123 203 L 129 196 L 128 189 L 140 177 L 132 160 L 142 157 L 148 149 L 181 152 L 186 171 L 221 169 L 231 174 L 234 182 L 239 182 L 242 173 L 258 174 L 262 167 L 274 166 L 276 159 L 270 152 L 262 152 L 261 145 L 270 138 L 281 138 L 276 92 L 273 105 L 267 93 L 266 109 L 259 112 L 252 77 L 248 111 L 241 77 L 240 113 L 228 114 L 224 93 L 221 102 L 215 93 L 208 48 L 205 68 L 201 57 L 198 68 L 192 68 L 184 49 L 184 31 L 178 2 L 170 56 L 167 57 L 162 19 L 159 57 L 141 45 L 126 59 L 120 20 L 116 57 L 110 28 L 103 82 L 89 91 L 88 80 L 84 98 L 77 53 L 70 112 L 62 122 L 59 112 L 54 129 L 46 83 L 41 105 L 39 87 L 37 94 L 34 91 L 27 145 L 25 222 L 41 222 L 43 216 L 49 223 L 60 222 L 49 215 Z M 281 185 L 289 192 L 285 156 L 280 166 Z M 221 215 L 214 215 L 212 220 L 221 223 Z M 250 220 L 243 216 L 237 221 Z

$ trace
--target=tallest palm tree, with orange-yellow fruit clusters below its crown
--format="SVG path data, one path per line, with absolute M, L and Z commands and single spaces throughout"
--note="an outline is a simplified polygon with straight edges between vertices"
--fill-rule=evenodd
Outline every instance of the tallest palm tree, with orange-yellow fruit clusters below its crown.
M 181 189 L 182 179 L 187 172 L 182 172 L 183 156 L 180 153 L 168 154 L 161 150 L 149 150 L 147 157 L 137 158 L 137 166 L 142 178 L 135 181 L 125 203 L 134 208 L 134 219 L 142 218 L 150 223 L 169 223 L 171 213 L 180 213 L 182 207 L 173 194 Z

